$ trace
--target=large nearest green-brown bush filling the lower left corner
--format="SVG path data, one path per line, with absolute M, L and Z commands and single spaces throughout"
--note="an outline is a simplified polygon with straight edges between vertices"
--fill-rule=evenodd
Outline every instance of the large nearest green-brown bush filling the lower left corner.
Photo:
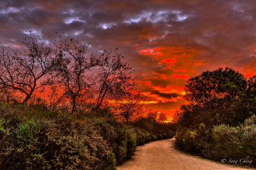
M 24 111 L 24 110 L 22 110 Z M 20 110 L 0 115 L 3 169 L 115 169 L 108 143 L 84 122 L 33 120 Z

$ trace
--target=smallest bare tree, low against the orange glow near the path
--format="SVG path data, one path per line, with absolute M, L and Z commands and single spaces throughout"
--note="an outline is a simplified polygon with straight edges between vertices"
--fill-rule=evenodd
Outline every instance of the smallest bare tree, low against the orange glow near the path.
M 116 108 L 118 113 L 116 116 L 121 117 L 127 124 L 131 122 L 132 118 L 141 115 L 143 103 L 143 96 L 140 92 L 130 92 L 120 101 Z

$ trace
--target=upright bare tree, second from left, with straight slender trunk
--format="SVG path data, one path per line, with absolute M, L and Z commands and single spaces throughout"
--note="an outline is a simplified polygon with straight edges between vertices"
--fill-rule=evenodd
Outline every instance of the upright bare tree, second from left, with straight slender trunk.
M 92 67 L 98 64 L 95 53 L 89 52 L 88 45 L 80 43 L 77 39 L 65 39 L 58 45 L 62 60 L 56 66 L 56 79 L 63 85 L 65 93 L 72 101 L 72 113 L 77 108 L 77 97 L 86 93 L 90 88 L 93 76 Z

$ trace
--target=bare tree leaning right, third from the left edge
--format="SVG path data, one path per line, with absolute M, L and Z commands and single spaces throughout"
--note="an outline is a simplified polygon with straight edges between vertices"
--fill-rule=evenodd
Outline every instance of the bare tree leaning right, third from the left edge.
M 99 65 L 96 110 L 100 108 L 106 96 L 117 99 L 124 96 L 130 87 L 133 87 L 132 67 L 123 59 L 124 57 L 118 53 L 117 48 L 109 51 L 104 50 L 102 53 Z

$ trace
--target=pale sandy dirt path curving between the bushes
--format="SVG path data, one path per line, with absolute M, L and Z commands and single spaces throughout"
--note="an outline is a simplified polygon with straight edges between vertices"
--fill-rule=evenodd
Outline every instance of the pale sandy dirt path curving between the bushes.
M 211 160 L 187 155 L 173 148 L 174 138 L 154 141 L 143 146 L 138 146 L 131 160 L 118 166 L 117 170 L 142 170 L 142 169 L 246 169 L 245 167 L 212 162 Z M 247 164 L 248 166 L 248 164 Z M 252 169 L 252 168 L 248 168 Z

